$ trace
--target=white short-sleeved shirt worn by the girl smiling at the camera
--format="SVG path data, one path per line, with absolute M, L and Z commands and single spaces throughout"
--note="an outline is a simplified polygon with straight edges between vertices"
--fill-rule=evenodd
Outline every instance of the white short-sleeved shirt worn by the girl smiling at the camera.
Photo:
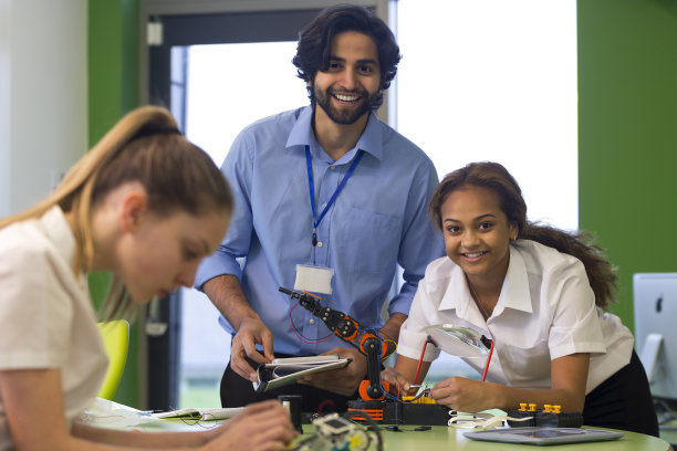
M 586 394 L 629 363 L 633 335 L 621 319 L 595 306 L 583 263 L 529 240 L 510 247 L 510 263 L 492 315 L 485 322 L 464 276 L 449 258 L 430 263 L 399 333 L 398 354 L 420 357 L 435 324 L 473 328 L 494 340 L 487 380 L 550 388 L 550 361 L 590 353 Z M 424 359 L 439 349 L 428 345 Z M 486 361 L 464 358 L 478 371 Z M 454 376 L 454 375 L 449 375 Z

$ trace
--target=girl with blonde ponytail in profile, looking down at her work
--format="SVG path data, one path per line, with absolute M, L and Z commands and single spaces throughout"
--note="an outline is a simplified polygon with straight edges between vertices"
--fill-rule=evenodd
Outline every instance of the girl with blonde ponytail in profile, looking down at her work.
M 107 358 L 86 273 L 114 275 L 105 318 L 191 286 L 232 211 L 221 172 L 171 115 L 138 108 L 45 200 L 0 220 L 1 450 L 274 450 L 295 434 L 278 402 L 195 433 L 138 433 L 77 421 Z

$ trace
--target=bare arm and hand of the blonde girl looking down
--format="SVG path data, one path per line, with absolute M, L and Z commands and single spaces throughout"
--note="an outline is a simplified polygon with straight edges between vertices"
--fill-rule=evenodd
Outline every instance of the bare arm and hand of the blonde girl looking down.
M 205 432 L 139 433 L 74 424 L 71 433 L 59 370 L 0 371 L 0 394 L 17 451 L 283 450 L 295 437 L 289 413 L 277 401 L 252 405 Z

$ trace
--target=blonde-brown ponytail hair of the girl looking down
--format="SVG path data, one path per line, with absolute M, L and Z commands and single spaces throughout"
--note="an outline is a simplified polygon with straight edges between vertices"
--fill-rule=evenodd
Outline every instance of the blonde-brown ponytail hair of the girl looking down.
M 138 181 L 148 195 L 148 210 L 167 217 L 178 210 L 199 216 L 232 211 L 232 195 L 211 158 L 177 129 L 162 107 L 142 106 L 127 113 L 82 157 L 44 200 L 0 220 L 40 218 L 54 206 L 75 218 L 75 274 L 91 270 L 94 259 L 91 216 L 105 195 L 124 182 Z M 129 312 L 126 290 L 114 275 L 103 312 L 106 318 Z

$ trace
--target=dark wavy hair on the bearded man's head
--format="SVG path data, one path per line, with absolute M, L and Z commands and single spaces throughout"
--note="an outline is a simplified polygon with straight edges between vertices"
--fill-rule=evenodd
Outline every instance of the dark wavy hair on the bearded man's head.
M 296 54 L 292 63 L 296 66 L 299 78 L 309 83 L 308 95 L 315 103 L 312 84 L 317 71 L 329 69 L 332 40 L 338 33 L 357 31 L 372 38 L 378 52 L 381 67 L 381 93 L 373 109 L 383 104 L 383 92 L 390 86 L 402 59 L 395 35 L 388 25 L 371 10 L 355 4 L 336 4 L 326 8 L 299 33 Z

